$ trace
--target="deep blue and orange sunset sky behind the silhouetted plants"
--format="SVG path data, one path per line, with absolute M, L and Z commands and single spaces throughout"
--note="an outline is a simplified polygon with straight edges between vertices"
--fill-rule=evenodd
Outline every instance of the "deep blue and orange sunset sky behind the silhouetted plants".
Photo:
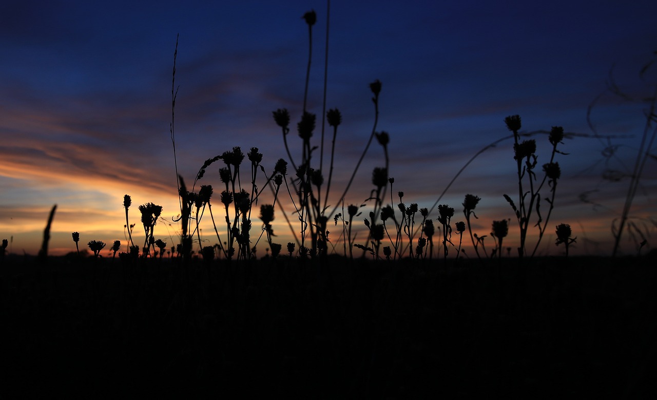
M 166 219 L 179 213 L 169 129 L 178 34 L 175 139 L 178 171 L 186 181 L 193 181 L 204 160 L 233 146 L 244 153 L 257 146 L 271 171 L 286 157 L 271 114 L 277 108 L 290 110 L 288 141 L 300 158 L 296 122 L 308 56 L 301 17 L 311 9 L 317 24 L 308 109 L 321 118 L 325 1 L 3 3 L 0 236 L 11 238 L 9 250 L 37 253 L 54 204 L 51 254 L 75 250 L 73 231 L 80 233 L 81 248 L 89 240 L 108 247 L 122 240 L 125 248 L 124 194 L 133 200 L 135 242 L 144 237 L 139 204 L 160 204 Z M 578 236 L 573 254 L 609 254 L 612 221 L 622 210 L 646 107 L 606 88 L 614 66 L 614 81 L 629 97 L 652 95 L 657 74 L 649 70 L 642 81 L 639 70 L 655 58 L 655 11 L 650 0 L 332 1 L 327 109 L 340 109 L 342 125 L 330 205 L 338 203 L 371 133 L 368 85 L 374 79 L 382 82 L 377 130 L 390 134 L 394 192 L 403 190 L 407 204 L 428 208 L 470 157 L 509 135 L 506 116 L 519 114 L 524 132 L 560 125 L 591 136 L 587 108 L 598 99 L 591 120 L 599 135 L 615 138 L 564 141 L 561 149 L 569 155 L 557 159 L 562 179 L 550 225 L 571 225 Z M 319 129 L 313 136 L 318 145 Z M 550 144 L 545 135 L 535 139 L 542 165 Z M 611 149 L 614 155 L 606 158 Z M 383 164 L 382 148 L 373 143 L 346 204 L 369 196 L 373 167 Z M 217 209 L 219 166 L 221 160 L 199 181 L 215 187 Z M 632 215 L 652 221 L 655 171 L 655 160 L 649 160 L 632 209 Z M 476 158 L 447 191 L 440 203 L 457 210 L 453 221 L 463 219 L 466 193 L 482 198 L 479 234 L 489 234 L 493 219 L 514 217 L 503 198 L 518 196 L 512 141 Z M 290 237 L 283 222 L 277 213 L 277 241 L 285 244 Z M 253 225 L 257 237 L 260 220 Z M 171 244 L 177 227 L 158 223 L 155 236 Z M 214 244 L 211 225 L 203 231 Z M 554 229 L 548 232 L 542 254 L 562 254 Z M 517 238 L 512 219 L 509 246 Z M 260 256 L 264 247 L 258 245 Z M 625 236 L 623 252 L 635 251 Z

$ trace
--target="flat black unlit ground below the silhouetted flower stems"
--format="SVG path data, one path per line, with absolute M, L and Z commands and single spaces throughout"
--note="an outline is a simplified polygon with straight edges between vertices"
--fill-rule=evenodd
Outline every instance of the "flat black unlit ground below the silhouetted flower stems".
M 148 261 L 5 257 L 0 398 L 657 393 L 654 259 Z

